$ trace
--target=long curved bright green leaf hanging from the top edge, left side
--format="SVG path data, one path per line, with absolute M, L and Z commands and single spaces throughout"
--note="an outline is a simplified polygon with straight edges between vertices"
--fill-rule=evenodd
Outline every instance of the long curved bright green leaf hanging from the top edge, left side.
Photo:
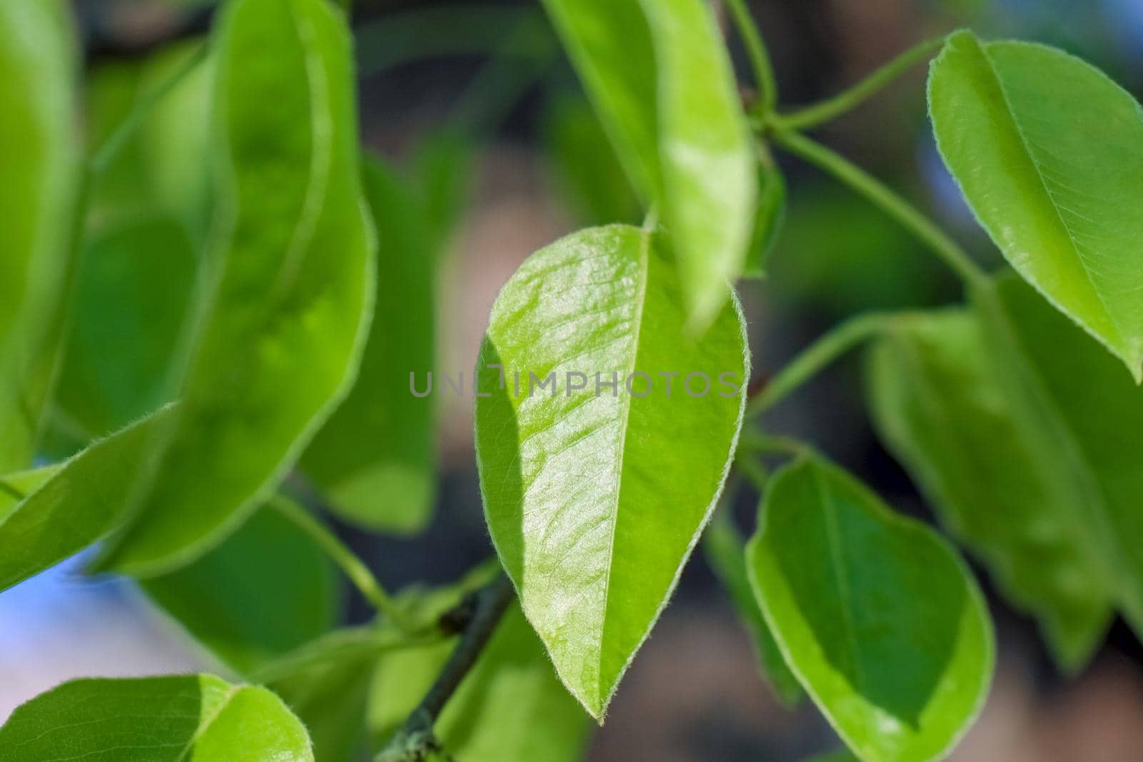
M 349 392 L 371 312 L 344 15 L 327 0 L 238 0 L 215 34 L 227 234 L 177 419 L 98 564 L 135 576 L 192 561 L 269 497 Z

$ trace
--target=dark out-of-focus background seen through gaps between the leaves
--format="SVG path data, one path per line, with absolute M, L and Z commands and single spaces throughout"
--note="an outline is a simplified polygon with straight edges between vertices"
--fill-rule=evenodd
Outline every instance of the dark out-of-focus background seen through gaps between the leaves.
M 1143 94 L 1143 0 L 756 0 L 782 102 L 805 104 L 856 81 L 910 45 L 959 26 L 1058 46 Z M 210 6 L 193 0 L 77 2 L 87 66 L 139 58 L 201 34 Z M 443 170 L 465 203 L 440 290 L 439 368 L 473 364 L 496 292 L 534 250 L 576 227 L 638 218 L 537 2 L 386 2 L 354 9 L 366 143 L 400 163 L 427 139 L 465 146 Z M 733 35 L 732 35 L 733 39 Z M 733 49 L 744 80 L 742 50 Z M 936 155 L 925 69 L 818 135 L 934 214 L 982 262 L 998 254 L 975 227 Z M 744 282 L 756 370 L 782 366 L 839 319 L 865 310 L 960 298 L 957 281 L 909 233 L 793 161 L 786 224 L 769 276 Z M 591 193 L 584 191 L 590 185 Z M 832 368 L 775 411 L 796 434 L 858 473 L 897 510 L 932 521 L 903 471 L 873 438 L 860 356 Z M 441 489 L 426 535 L 386 539 L 339 528 L 394 588 L 445 583 L 487 558 L 467 400 L 440 416 Z M 753 529 L 757 495 L 735 514 Z M 988 706 L 954 760 L 1143 760 L 1143 650 L 1116 623 L 1073 677 L 1052 666 L 1033 624 L 990 593 L 999 665 Z M 347 617 L 367 609 L 349 600 Z M 0 716 L 75 675 L 149 674 L 198 657 L 127 584 L 80 584 L 69 569 L 0 597 Z M 802 760 L 838 746 L 812 706 L 790 712 L 758 674 L 744 629 L 701 553 L 636 659 L 589 759 Z

